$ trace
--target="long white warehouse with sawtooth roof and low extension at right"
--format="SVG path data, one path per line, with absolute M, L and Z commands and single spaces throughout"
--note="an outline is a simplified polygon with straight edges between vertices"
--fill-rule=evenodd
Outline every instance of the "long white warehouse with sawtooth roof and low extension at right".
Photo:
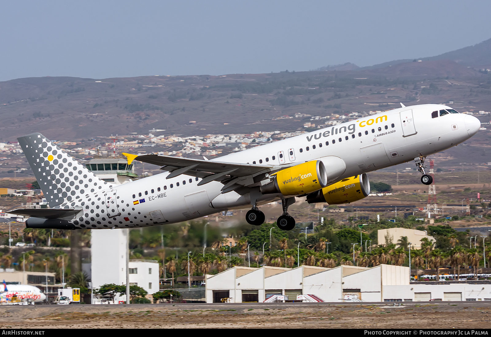
M 315 295 L 324 302 L 491 301 L 491 284 L 409 282 L 409 267 L 235 266 L 206 276 L 206 302 L 263 302 L 273 295 Z

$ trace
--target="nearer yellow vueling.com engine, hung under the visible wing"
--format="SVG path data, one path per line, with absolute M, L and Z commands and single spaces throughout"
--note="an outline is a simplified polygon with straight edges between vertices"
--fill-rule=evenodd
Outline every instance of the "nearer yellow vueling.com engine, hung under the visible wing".
M 261 193 L 300 195 L 318 191 L 327 185 L 327 173 L 320 160 L 282 169 L 273 176 L 273 181 L 261 186 Z

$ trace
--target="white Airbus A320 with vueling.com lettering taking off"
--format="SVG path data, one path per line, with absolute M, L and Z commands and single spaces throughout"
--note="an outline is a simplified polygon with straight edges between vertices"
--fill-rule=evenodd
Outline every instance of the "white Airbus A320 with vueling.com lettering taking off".
M 295 227 L 288 206 L 343 204 L 370 193 L 366 172 L 413 161 L 425 173 L 427 155 L 455 146 L 480 127 L 477 118 L 445 105 L 387 111 L 215 160 L 125 154 L 168 173 L 123 185 L 102 181 L 39 133 L 19 138 L 51 209 L 17 209 L 28 228 L 104 229 L 155 226 L 251 207 L 246 220 L 264 222 L 258 206 L 281 200 L 277 225 Z

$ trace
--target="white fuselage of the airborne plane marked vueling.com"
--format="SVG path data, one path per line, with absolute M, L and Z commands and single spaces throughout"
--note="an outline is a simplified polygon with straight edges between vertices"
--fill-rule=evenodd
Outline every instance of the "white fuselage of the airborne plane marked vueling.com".
M 479 129 L 479 120 L 470 115 L 452 113 L 432 118 L 433 111 L 442 109 L 450 108 L 436 104 L 399 108 L 232 153 L 220 157 L 219 161 L 282 165 L 336 156 L 346 163 L 339 181 L 445 150 L 464 142 Z M 153 226 L 203 217 L 225 209 L 250 207 L 248 194 L 221 194 L 223 184 L 220 182 L 197 186 L 201 179 L 185 174 L 166 179 L 167 175 L 164 172 L 114 186 L 112 190 L 117 193 L 121 215 L 108 219 L 108 222 L 98 221 L 97 225 L 82 223 L 82 227 Z M 280 196 L 263 195 L 257 204 L 278 200 Z M 97 213 L 90 204 L 88 200 L 84 206 L 85 219 L 90 217 L 89 211 Z M 78 224 L 76 219 L 72 221 Z

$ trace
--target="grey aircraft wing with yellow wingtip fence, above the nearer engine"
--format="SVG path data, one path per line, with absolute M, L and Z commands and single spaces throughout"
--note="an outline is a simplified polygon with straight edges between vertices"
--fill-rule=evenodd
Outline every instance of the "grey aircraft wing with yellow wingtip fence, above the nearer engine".
M 204 185 L 212 181 L 224 183 L 222 193 L 237 190 L 241 187 L 260 186 L 260 181 L 267 178 L 269 174 L 289 166 L 300 163 L 291 163 L 281 166 L 227 163 L 214 160 L 189 159 L 171 156 L 159 156 L 156 154 L 134 155 L 123 153 L 128 159 L 128 164 L 134 160 L 162 166 L 161 169 L 171 172 L 167 179 L 187 174 L 203 178 L 198 185 Z

